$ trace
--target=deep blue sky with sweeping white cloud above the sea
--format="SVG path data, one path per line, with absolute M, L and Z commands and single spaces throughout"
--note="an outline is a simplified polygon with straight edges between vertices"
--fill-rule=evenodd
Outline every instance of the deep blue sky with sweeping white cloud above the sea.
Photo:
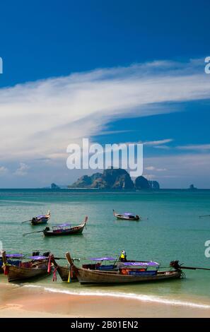
M 144 143 L 144 176 L 210 188 L 209 1 L 1 4 L 0 188 L 71 184 L 71 143 Z

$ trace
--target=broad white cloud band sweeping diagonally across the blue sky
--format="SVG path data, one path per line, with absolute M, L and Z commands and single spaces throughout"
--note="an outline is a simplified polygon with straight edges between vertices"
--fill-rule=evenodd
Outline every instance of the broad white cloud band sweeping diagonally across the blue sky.
M 116 117 L 171 112 L 163 102 L 209 98 L 209 77 L 199 66 L 153 61 L 1 88 L 0 158 L 65 160 L 69 143 L 99 134 Z

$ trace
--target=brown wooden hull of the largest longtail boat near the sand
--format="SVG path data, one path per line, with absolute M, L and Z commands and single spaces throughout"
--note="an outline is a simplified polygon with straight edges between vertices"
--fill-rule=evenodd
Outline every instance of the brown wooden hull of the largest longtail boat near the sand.
M 76 268 L 76 277 L 81 284 L 119 284 L 119 283 L 144 283 L 180 278 L 181 271 L 164 271 L 156 275 L 123 275 L 116 272 L 103 273 L 84 268 Z

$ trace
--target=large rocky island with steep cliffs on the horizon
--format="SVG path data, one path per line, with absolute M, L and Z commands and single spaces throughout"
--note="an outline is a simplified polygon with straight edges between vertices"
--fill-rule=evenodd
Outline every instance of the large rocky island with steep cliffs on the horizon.
M 90 177 L 83 175 L 69 188 L 100 188 L 100 189 L 159 189 L 156 181 L 148 181 L 145 177 L 136 177 L 132 181 L 129 173 L 121 168 L 110 168 L 103 173 L 95 173 Z

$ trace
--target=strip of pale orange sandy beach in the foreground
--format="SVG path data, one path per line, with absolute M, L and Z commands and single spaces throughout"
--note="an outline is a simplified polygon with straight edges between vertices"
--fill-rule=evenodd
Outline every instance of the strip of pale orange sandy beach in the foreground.
M 6 287 L 5 287 L 6 286 Z M 210 317 L 210 304 L 155 302 L 105 294 L 69 294 L 42 286 L 0 285 L 0 317 Z M 182 303 L 182 304 L 181 304 Z M 197 307 L 196 307 L 197 306 Z

